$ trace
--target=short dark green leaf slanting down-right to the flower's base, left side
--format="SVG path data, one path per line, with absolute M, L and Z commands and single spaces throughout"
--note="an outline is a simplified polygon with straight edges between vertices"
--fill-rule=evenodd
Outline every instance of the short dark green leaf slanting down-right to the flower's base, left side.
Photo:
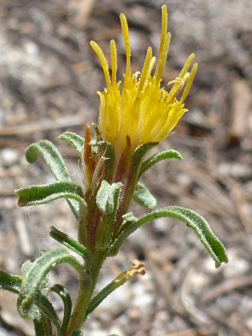
M 67 248 L 78 253 L 85 261 L 87 268 L 90 269 L 91 257 L 88 250 L 83 245 L 79 244 L 75 239 L 68 236 L 64 232 L 58 230 L 55 225 L 50 225 L 49 236 L 55 239 L 60 244 L 65 245 Z

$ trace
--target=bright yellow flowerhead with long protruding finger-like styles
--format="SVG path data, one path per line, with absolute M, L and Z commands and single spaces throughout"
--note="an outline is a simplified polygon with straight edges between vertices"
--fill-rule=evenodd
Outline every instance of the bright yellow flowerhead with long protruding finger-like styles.
M 169 135 L 178 120 L 188 111 L 184 109 L 183 101 L 197 70 L 197 63 L 195 63 L 191 72 L 187 72 L 194 58 L 194 54 L 191 54 L 180 75 L 167 84 L 173 84 L 171 90 L 167 92 L 164 88 L 160 88 L 161 75 L 171 38 L 171 34 L 167 33 L 167 8 L 163 5 L 161 42 L 156 70 L 151 75 L 156 58 L 152 57 L 152 48 L 149 47 L 141 74 L 136 72 L 132 75 L 128 25 L 124 14 L 120 15 L 120 20 L 126 49 L 126 74 L 124 74 L 124 84 L 121 91 L 119 89 L 121 81 L 116 82 L 115 41 L 111 40 L 110 42 L 112 79 L 102 50 L 97 43 L 90 42 L 100 59 L 107 82 L 107 88 L 103 92 L 97 92 L 100 96 L 100 136 L 102 140 L 113 145 L 116 155 L 119 157 L 127 145 L 127 136 L 130 139 L 131 150 L 135 150 L 140 144 L 160 142 Z M 183 87 L 181 98 L 177 100 L 176 96 Z

